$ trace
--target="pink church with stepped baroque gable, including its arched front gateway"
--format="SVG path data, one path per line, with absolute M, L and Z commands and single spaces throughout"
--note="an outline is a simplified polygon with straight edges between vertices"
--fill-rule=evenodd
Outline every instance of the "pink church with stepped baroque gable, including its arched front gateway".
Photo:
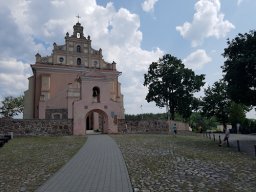
M 124 119 L 116 63 L 104 61 L 77 22 L 65 44 L 53 44 L 50 56 L 36 54 L 33 76 L 24 95 L 24 119 L 72 119 L 73 134 L 117 133 Z

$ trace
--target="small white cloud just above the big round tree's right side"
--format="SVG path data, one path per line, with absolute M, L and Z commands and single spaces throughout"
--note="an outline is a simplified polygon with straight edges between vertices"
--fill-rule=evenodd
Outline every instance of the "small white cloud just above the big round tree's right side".
M 212 58 L 209 57 L 205 50 L 198 49 L 189 54 L 184 60 L 186 67 L 193 70 L 202 69 L 207 63 L 210 63 Z

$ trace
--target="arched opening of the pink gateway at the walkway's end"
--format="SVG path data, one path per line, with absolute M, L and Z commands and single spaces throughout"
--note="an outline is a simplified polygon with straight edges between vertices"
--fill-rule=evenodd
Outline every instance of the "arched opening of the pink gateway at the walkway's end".
M 108 132 L 108 115 L 100 110 L 94 109 L 89 111 L 85 116 L 86 133 L 107 133 Z

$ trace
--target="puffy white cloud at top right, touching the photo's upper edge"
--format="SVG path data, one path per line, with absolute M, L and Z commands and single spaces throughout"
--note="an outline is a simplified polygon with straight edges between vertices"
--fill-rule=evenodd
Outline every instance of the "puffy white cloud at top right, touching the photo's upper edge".
M 191 23 L 185 22 L 177 26 L 180 35 L 191 40 L 193 47 L 202 44 L 208 37 L 223 38 L 235 28 L 228 20 L 224 20 L 224 14 L 220 11 L 219 0 L 199 0 L 195 4 L 195 14 Z

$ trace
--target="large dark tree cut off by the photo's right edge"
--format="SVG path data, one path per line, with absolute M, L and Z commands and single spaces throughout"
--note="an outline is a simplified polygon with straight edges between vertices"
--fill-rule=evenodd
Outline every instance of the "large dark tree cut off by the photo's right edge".
M 234 39 L 228 39 L 227 44 L 223 53 L 226 61 L 222 69 L 228 94 L 236 103 L 255 106 L 256 31 L 238 34 Z

